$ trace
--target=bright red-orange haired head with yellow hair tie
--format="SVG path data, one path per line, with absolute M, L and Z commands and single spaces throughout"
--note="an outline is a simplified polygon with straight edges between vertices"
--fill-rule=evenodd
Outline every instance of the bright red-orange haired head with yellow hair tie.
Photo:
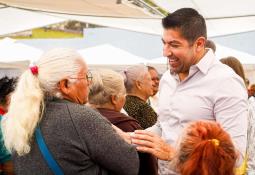
M 230 136 L 215 122 L 190 124 L 177 152 L 182 175 L 234 175 L 237 159 Z

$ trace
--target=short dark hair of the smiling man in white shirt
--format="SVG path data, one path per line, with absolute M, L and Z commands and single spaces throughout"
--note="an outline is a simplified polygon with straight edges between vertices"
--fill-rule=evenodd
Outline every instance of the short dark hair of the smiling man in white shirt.
M 164 29 L 178 29 L 190 44 L 201 36 L 207 39 L 205 19 L 195 9 L 181 8 L 162 19 Z

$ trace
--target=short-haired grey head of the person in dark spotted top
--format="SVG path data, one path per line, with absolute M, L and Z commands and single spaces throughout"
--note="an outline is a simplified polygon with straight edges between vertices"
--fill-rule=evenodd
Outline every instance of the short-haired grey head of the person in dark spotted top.
M 124 71 L 124 81 L 128 94 L 142 97 L 144 101 L 153 95 L 151 76 L 144 65 L 128 67 Z

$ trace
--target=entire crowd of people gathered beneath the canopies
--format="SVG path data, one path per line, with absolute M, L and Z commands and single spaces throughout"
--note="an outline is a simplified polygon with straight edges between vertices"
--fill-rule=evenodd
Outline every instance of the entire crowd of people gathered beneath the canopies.
M 162 19 L 170 69 L 89 71 L 71 49 L 0 79 L 3 174 L 255 174 L 255 85 L 215 57 L 205 19 Z M 86 58 L 85 58 L 86 60 Z

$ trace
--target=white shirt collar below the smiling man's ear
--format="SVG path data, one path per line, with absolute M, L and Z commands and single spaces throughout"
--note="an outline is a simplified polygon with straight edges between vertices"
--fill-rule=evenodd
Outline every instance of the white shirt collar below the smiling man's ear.
M 206 49 L 204 57 L 195 65 L 203 74 L 207 74 L 212 63 L 215 61 L 215 55 L 211 49 Z

